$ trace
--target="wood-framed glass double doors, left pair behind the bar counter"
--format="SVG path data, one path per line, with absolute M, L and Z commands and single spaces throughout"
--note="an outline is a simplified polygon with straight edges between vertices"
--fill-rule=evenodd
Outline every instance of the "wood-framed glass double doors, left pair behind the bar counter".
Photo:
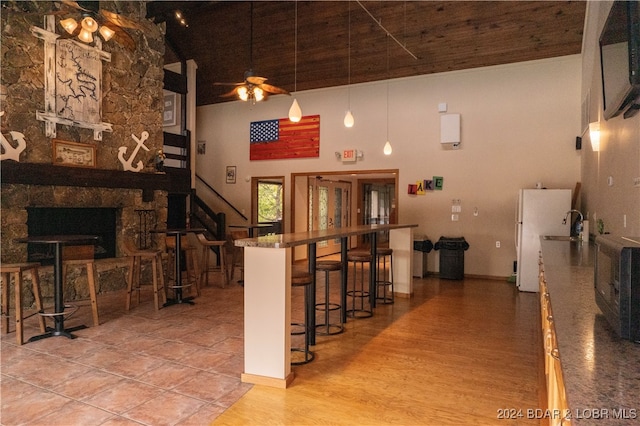
M 351 183 L 309 178 L 309 230 L 351 225 Z M 340 252 L 340 239 L 318 242 L 317 255 Z

